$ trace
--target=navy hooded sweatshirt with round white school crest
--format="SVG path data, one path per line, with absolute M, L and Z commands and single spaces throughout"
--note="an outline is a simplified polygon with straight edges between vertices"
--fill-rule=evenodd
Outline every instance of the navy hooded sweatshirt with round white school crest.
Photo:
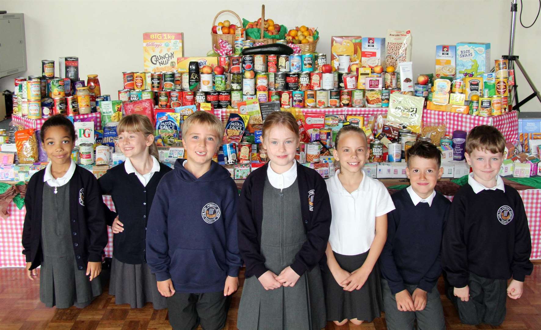
M 177 159 L 156 189 L 147 225 L 147 263 L 175 291 L 219 292 L 242 266 L 237 243 L 239 198 L 229 172 L 212 161 L 195 178 Z

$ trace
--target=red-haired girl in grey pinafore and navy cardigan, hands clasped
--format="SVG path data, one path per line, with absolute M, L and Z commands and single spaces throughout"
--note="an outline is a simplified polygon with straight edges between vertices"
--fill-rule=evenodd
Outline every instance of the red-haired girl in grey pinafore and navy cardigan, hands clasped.
M 299 126 L 291 113 L 269 114 L 261 138 L 270 161 L 246 179 L 237 211 L 246 263 L 237 327 L 321 329 L 319 262 L 331 224 L 325 181 L 295 161 Z

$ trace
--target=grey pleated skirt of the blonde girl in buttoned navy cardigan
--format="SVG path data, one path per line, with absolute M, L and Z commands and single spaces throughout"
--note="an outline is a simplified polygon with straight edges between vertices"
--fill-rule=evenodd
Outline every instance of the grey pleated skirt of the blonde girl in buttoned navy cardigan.
M 158 291 L 156 275 L 146 263 L 123 263 L 113 256 L 109 294 L 115 296 L 116 305 L 129 303 L 131 308 L 143 308 L 151 302 L 154 309 L 167 308 L 166 297 Z

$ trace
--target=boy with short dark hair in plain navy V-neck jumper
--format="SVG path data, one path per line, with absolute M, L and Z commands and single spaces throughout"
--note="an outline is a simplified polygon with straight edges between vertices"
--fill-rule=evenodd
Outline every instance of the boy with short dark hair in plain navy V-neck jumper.
M 451 202 L 434 187 L 443 174 L 441 152 L 426 141 L 408 151 L 411 185 L 391 197 L 387 242 L 381 252 L 381 286 L 387 329 L 445 329 L 436 283 L 441 274 L 440 248 Z

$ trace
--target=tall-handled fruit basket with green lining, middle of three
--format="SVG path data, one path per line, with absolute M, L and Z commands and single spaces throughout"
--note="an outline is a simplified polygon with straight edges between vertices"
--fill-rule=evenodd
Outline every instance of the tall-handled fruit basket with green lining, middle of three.
M 265 5 L 261 5 L 261 18 L 256 22 L 242 20 L 246 29 L 246 38 L 254 43 L 275 43 L 286 38 L 287 28 L 285 25 L 275 24 L 271 18 L 265 20 Z

